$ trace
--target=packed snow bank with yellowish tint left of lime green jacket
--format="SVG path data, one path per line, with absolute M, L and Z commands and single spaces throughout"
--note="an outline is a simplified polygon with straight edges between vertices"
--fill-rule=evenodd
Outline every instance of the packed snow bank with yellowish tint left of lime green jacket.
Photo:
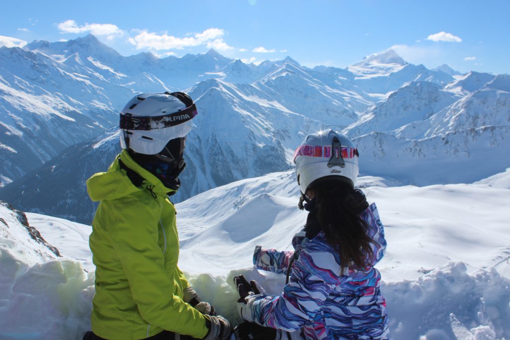
M 80 340 L 90 329 L 94 275 L 77 260 L 30 264 L 0 247 L 0 274 L 0 338 Z

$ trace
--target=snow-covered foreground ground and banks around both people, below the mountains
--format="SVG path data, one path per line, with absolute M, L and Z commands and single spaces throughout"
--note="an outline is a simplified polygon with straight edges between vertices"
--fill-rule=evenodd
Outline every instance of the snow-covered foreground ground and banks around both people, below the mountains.
M 388 251 L 377 268 L 392 339 L 510 337 L 510 189 L 490 186 L 494 178 L 481 182 L 420 188 L 359 178 L 385 225 Z M 306 219 L 297 200 L 294 173 L 287 171 L 237 181 L 176 205 L 180 267 L 200 297 L 234 323 L 235 275 L 257 279 L 269 293 L 281 292 L 285 277 L 254 269 L 252 251 L 255 245 L 291 249 L 292 235 Z M 9 225 L 5 230 L 16 227 L 13 214 L 0 210 Z M 15 246 L 20 241 L 0 239 L 0 338 L 79 339 L 90 327 L 90 227 L 27 217 L 62 257 L 28 256 Z M 0 220 L 0 230 L 3 226 Z M 17 227 L 21 240 L 25 231 Z

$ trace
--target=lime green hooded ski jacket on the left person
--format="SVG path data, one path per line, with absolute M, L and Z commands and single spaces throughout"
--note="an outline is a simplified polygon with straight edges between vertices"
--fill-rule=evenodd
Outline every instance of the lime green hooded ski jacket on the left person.
M 120 161 L 138 173 L 136 187 Z M 100 201 L 89 244 L 96 266 L 92 331 L 107 339 L 142 339 L 163 330 L 203 338 L 206 318 L 183 301 L 189 283 L 177 267 L 179 239 L 171 189 L 123 150 L 107 172 L 87 180 Z

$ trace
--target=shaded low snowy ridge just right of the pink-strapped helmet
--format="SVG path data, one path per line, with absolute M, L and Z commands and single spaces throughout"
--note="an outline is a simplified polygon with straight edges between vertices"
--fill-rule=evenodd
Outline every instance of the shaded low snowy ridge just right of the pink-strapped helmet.
M 504 171 L 510 127 L 479 127 L 421 140 L 370 133 L 353 142 L 363 174 L 390 177 L 402 184 L 472 183 Z

